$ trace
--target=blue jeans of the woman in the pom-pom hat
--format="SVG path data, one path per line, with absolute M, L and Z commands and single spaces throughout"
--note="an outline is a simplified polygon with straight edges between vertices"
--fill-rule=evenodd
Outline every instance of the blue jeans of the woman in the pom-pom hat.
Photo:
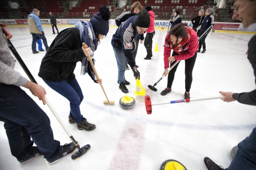
M 84 117 L 81 115 L 80 104 L 84 99 L 84 95 L 76 78 L 72 81 L 61 82 L 43 80 L 50 88 L 69 100 L 69 117 L 73 116 L 77 123 L 81 123 Z

